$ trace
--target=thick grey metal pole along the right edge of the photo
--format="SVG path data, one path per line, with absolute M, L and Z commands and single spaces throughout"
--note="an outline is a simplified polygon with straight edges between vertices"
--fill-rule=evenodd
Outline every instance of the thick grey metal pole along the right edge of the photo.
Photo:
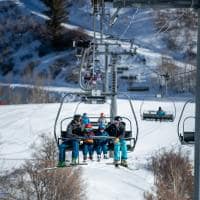
M 194 158 L 194 200 L 200 200 L 200 8 L 198 12 L 197 74 L 196 74 L 196 120 Z

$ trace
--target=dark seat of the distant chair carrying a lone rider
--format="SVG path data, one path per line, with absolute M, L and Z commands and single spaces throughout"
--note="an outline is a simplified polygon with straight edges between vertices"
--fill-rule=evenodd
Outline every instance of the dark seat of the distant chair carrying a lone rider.
M 160 121 L 173 121 L 173 114 L 165 114 L 164 116 L 157 115 L 156 111 L 147 111 L 143 113 L 143 120 L 160 120 Z

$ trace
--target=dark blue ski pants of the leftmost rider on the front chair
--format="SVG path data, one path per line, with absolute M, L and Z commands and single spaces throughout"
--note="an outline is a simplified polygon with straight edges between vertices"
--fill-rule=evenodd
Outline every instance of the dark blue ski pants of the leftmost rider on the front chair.
M 72 140 L 72 158 L 77 159 L 79 156 L 79 141 Z M 66 142 L 59 145 L 59 161 L 65 161 L 65 151 L 69 146 Z

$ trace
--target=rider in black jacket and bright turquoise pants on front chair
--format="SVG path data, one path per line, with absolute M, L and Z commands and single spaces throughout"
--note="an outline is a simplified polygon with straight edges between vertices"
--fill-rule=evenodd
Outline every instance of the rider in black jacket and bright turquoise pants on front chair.
M 106 129 L 109 136 L 116 137 L 114 139 L 114 164 L 116 167 L 120 163 L 120 150 L 121 150 L 121 165 L 128 167 L 127 164 L 127 145 L 125 140 L 125 122 L 122 121 L 120 116 L 114 118 L 114 122 Z

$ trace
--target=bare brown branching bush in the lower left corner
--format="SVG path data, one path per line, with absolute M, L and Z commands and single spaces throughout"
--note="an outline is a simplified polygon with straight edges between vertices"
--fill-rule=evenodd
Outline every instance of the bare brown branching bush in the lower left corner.
M 48 136 L 41 136 L 41 144 L 32 145 L 32 160 L 21 169 L 3 178 L 8 199 L 22 200 L 82 200 L 84 181 L 80 168 L 58 168 L 56 165 L 56 144 Z

